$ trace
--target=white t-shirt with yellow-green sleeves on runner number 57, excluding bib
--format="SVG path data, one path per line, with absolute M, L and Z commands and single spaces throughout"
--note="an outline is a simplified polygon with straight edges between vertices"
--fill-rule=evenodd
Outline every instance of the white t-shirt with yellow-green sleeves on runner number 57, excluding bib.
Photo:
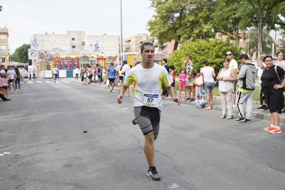
M 139 64 L 129 70 L 124 84 L 130 86 L 133 82 L 136 84 L 134 89 L 134 107 L 145 105 L 142 103 L 143 94 L 158 95 L 156 107 L 161 111 L 161 85 L 169 87 L 173 82 L 167 70 L 156 63 L 154 63 L 151 69 L 144 69 Z

